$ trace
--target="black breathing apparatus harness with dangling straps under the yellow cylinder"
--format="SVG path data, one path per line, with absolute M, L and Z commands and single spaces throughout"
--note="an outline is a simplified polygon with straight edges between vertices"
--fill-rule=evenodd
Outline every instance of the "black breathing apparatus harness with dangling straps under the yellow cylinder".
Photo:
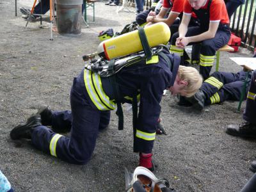
M 164 61 L 168 63 L 170 70 L 172 70 L 172 61 L 163 53 L 163 50 L 166 49 L 169 52 L 166 45 L 157 45 L 156 47 L 151 48 L 148 44 L 147 36 L 143 28 L 138 29 L 141 45 L 143 51 L 136 52 L 133 54 L 128 54 L 113 60 L 105 60 L 103 58 L 96 59 L 98 55 L 97 52 L 93 54 L 87 54 L 83 56 L 85 61 L 84 68 L 91 70 L 99 74 L 100 77 L 109 77 L 111 85 L 113 87 L 113 95 L 115 97 L 115 102 L 117 106 L 116 115 L 118 115 L 118 130 L 124 129 L 124 114 L 122 111 L 122 95 L 119 91 L 118 84 L 116 83 L 115 74 L 118 73 L 122 68 L 134 65 L 139 61 L 149 61 L 152 59 L 152 56 L 160 55 L 163 57 Z M 138 149 L 135 145 L 135 135 L 136 135 L 136 124 L 138 121 L 138 100 L 137 100 L 138 90 L 134 92 L 132 97 L 132 124 L 133 124 L 133 134 L 134 134 L 134 152 L 138 152 Z

